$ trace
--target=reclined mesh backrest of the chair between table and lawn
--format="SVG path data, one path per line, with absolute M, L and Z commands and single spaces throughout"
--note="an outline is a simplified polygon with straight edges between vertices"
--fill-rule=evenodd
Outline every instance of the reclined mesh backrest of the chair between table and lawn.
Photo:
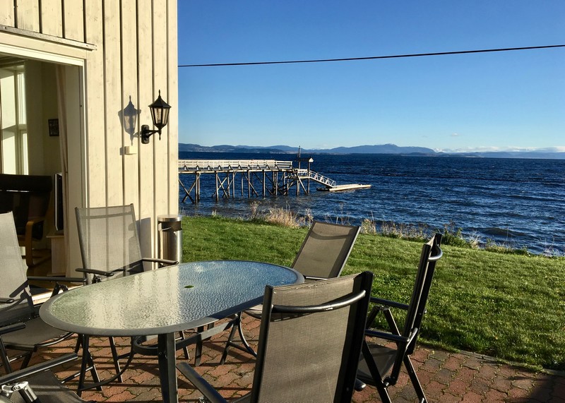
M 339 277 L 347 262 L 360 227 L 314 221 L 292 268 L 304 277 Z

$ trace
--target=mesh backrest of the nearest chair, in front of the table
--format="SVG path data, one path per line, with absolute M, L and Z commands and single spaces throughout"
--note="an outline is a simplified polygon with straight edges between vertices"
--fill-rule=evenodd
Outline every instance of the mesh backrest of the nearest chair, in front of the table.
M 372 281 L 266 287 L 251 402 L 350 402 Z

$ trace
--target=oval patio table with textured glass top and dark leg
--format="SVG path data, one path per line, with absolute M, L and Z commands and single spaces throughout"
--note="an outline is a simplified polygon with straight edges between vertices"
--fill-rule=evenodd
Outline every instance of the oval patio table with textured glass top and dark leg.
M 61 330 L 91 336 L 157 335 L 163 402 L 178 402 L 174 332 L 213 323 L 261 303 L 266 285 L 304 282 L 269 263 L 182 263 L 71 289 L 40 308 Z

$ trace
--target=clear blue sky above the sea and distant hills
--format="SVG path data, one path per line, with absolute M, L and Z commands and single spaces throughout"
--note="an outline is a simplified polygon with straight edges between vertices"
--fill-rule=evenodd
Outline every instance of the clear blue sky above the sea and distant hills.
M 565 44 L 563 0 L 179 0 L 178 15 L 179 65 Z M 177 107 L 180 143 L 565 151 L 565 48 L 179 68 Z

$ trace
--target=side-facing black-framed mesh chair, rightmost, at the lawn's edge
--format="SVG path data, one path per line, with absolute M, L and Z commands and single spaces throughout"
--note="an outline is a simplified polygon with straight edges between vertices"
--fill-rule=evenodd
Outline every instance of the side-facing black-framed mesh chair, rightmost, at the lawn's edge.
M 441 234 L 436 234 L 429 242 L 424 243 L 424 246 L 422 246 L 416 281 L 408 305 L 371 297 L 371 302 L 376 305 L 367 316 L 367 330 L 365 331 L 367 338 L 363 342 L 362 359 L 359 363 L 359 371 L 357 372 L 357 378 L 360 381 L 360 383 L 358 382 L 356 384 L 357 390 L 364 387 L 361 383 L 373 385 L 378 390 L 383 402 L 391 402 L 387 388 L 396 384 L 398 375 L 404 364 L 419 402 L 427 402 L 422 385 L 420 385 L 420 380 L 418 380 L 414 366 L 412 366 L 412 361 L 410 361 L 410 355 L 414 352 L 416 347 L 417 338 L 422 326 L 422 318 L 426 312 L 426 303 L 429 296 L 429 289 L 432 286 L 436 263 L 442 255 Z M 403 332 L 398 330 L 391 308 L 406 311 Z M 386 319 L 389 332 L 382 332 L 371 328 L 377 315 L 381 312 Z M 371 339 L 374 337 L 389 342 L 395 342 L 396 348 L 384 347 L 381 344 L 377 344 Z

